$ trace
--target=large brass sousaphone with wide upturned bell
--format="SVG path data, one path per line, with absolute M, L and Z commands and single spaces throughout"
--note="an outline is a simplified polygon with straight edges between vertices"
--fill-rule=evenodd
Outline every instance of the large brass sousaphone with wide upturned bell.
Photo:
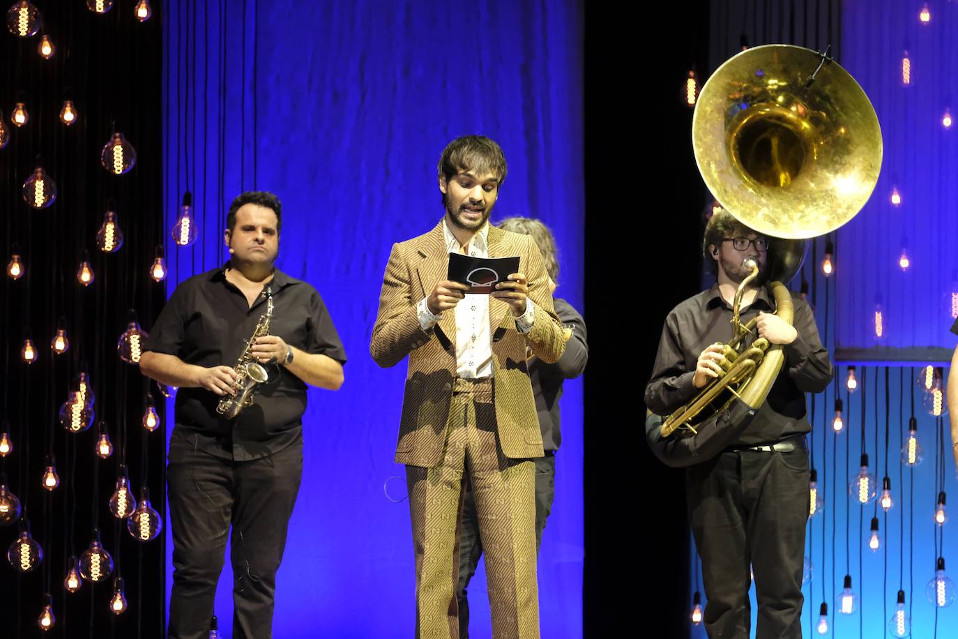
M 855 217 L 878 182 L 875 109 L 827 53 L 764 45 L 729 58 L 705 83 L 692 141 L 698 170 L 719 204 L 772 239 L 768 288 L 779 316 L 790 322 L 791 296 L 782 283 L 801 268 L 805 240 Z M 647 423 L 653 451 L 670 466 L 705 461 L 740 435 L 782 369 L 781 347 L 760 339 L 741 348 L 754 327 L 738 321 L 747 284 L 735 300 L 725 374 L 661 428 L 655 416 Z

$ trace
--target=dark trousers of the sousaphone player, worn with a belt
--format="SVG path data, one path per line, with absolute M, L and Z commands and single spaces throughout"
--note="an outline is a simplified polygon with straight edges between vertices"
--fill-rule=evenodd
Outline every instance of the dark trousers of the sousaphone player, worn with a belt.
M 809 454 L 741 450 L 686 471 L 689 522 L 702 560 L 709 637 L 748 639 L 749 564 L 756 639 L 801 639 Z

